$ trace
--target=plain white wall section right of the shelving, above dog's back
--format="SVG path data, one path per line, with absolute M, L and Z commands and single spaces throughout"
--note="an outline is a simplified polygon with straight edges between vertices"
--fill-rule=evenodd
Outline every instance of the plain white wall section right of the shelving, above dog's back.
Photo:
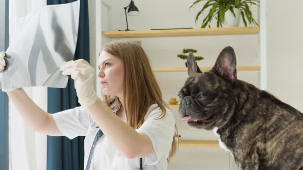
M 268 0 L 268 91 L 303 112 L 303 1 Z

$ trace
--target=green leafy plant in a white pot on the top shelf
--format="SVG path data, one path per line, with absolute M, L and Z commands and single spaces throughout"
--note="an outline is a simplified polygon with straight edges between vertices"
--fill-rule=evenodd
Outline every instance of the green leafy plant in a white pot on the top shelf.
M 190 9 L 201 1 L 205 0 L 195 1 Z M 201 28 L 205 28 L 207 25 L 211 28 L 210 24 L 213 18 L 217 19 L 217 27 L 237 27 L 239 26 L 240 15 L 245 27 L 248 25 L 258 26 L 258 23 L 253 18 L 251 7 L 253 5 L 259 7 L 259 4 L 259 0 L 207 0 L 202 9 L 197 13 L 196 23 L 201 13 L 210 8 L 209 13 L 203 19 Z

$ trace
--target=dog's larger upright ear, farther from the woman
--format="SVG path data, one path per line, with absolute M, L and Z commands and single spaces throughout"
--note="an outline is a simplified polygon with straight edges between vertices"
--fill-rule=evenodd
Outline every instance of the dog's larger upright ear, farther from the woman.
M 219 54 L 212 71 L 224 79 L 237 79 L 236 54 L 232 47 L 225 47 Z

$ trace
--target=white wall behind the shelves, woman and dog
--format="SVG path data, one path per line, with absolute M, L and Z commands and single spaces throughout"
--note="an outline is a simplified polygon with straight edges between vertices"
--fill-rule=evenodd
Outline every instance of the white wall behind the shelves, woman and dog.
M 129 0 L 104 1 L 111 5 L 111 16 L 107 17 L 106 8 L 102 7 L 102 30 L 126 29 L 123 7 Z M 140 14 L 127 16 L 129 29 L 148 30 L 154 28 L 199 28 L 201 20 L 195 24 L 195 16 L 203 3 L 195 9 L 188 10 L 194 1 L 166 0 L 166 1 L 135 1 Z M 293 4 L 296 4 L 295 6 Z M 299 88 L 302 82 L 302 68 L 300 47 L 303 33 L 299 30 L 303 22 L 300 7 L 303 2 L 293 0 L 267 1 L 267 40 L 268 40 L 268 91 L 282 101 L 303 111 L 300 97 L 303 89 Z M 255 19 L 257 10 L 254 9 Z M 100 17 L 100 16 L 97 16 Z M 241 23 L 241 26 L 243 24 Z M 96 31 L 100 33 L 100 31 Z M 102 45 L 111 39 L 102 36 Z M 125 39 L 127 40 L 127 39 Z M 172 38 L 131 38 L 140 40 L 147 53 L 152 67 L 184 67 L 185 60 L 177 58 L 183 48 L 198 50 L 197 55 L 203 55 L 204 60 L 198 61 L 201 67 L 212 67 L 225 46 L 232 46 L 236 51 L 238 66 L 258 66 L 258 37 L 257 35 L 241 36 L 203 36 L 203 37 L 172 37 Z M 96 56 L 92 56 L 96 57 Z M 163 97 L 177 98 L 187 75 L 179 73 L 155 73 L 160 84 Z M 258 71 L 238 71 L 238 78 L 259 87 Z M 182 139 L 217 139 L 213 132 L 190 130 L 180 121 L 177 109 L 172 109 Z M 188 159 L 191 158 L 191 159 Z M 236 169 L 232 156 L 220 148 L 180 148 L 177 156 L 172 159 L 169 169 Z

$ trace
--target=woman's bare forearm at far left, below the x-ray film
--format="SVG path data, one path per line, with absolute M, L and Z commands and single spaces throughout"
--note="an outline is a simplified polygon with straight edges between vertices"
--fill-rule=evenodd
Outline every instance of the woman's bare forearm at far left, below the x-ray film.
M 50 136 L 63 136 L 57 128 L 52 114 L 48 114 L 39 108 L 22 88 L 7 92 L 7 94 L 18 113 L 33 131 Z

